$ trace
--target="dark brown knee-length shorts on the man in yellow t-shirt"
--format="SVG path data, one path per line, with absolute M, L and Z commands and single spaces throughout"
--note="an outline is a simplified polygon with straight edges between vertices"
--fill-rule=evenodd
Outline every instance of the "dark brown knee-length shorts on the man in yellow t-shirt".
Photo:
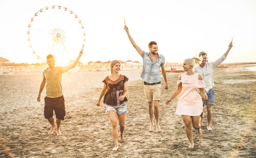
M 49 98 L 47 96 L 45 97 L 45 118 L 48 119 L 53 117 L 53 110 L 57 119 L 64 120 L 66 111 L 63 95 L 57 98 Z

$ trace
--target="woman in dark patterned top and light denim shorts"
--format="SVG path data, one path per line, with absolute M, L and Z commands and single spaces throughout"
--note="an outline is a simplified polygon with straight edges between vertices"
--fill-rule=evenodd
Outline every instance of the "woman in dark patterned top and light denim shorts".
M 106 76 L 103 89 L 101 90 L 97 106 L 100 106 L 100 100 L 104 96 L 103 103 L 106 104 L 106 112 L 109 114 L 112 124 L 112 135 L 115 142 L 115 147 L 112 149 L 116 151 L 118 149 L 118 130 L 117 130 L 117 117 L 119 120 L 120 129 L 120 142 L 123 142 L 123 130 L 126 114 L 126 95 L 128 92 L 127 81 L 128 78 L 119 74 L 121 64 L 118 60 L 111 62 L 110 71 L 111 75 Z

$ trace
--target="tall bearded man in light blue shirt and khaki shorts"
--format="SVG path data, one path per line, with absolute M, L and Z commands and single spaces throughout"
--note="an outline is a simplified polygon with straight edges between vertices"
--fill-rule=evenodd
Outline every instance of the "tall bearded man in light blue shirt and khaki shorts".
M 140 56 L 143 58 L 143 70 L 140 77 L 144 80 L 144 93 L 148 105 L 148 114 L 150 115 L 150 131 L 154 130 L 154 123 L 153 123 L 153 111 L 156 118 L 156 129 L 157 132 L 161 132 L 161 128 L 159 126 L 159 100 L 161 94 L 161 75 L 160 75 L 160 67 L 162 69 L 162 74 L 165 81 L 164 88 L 167 90 L 167 79 L 166 73 L 164 69 L 164 56 L 158 54 L 158 47 L 157 43 L 151 41 L 148 44 L 148 49 L 150 52 L 142 51 L 141 48 L 136 45 L 135 41 L 131 37 L 129 33 L 128 27 L 125 25 L 124 30 L 126 31 L 131 43 L 135 47 L 135 49 L 139 52 Z

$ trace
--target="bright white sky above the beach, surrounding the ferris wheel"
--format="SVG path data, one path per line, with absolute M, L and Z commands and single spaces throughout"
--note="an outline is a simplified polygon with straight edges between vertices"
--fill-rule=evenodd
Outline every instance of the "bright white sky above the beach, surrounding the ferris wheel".
M 142 61 L 123 29 L 123 16 L 137 45 L 148 51 L 148 42 L 156 41 L 166 62 L 183 62 L 200 51 L 207 52 L 210 61 L 216 60 L 225 53 L 233 36 L 233 48 L 225 62 L 256 61 L 256 1 L 253 0 L 0 0 L 0 57 L 16 63 L 41 62 L 29 48 L 28 24 L 39 9 L 52 5 L 67 7 L 81 19 L 86 32 L 82 63 Z M 78 55 L 81 46 L 69 50 L 70 53 Z

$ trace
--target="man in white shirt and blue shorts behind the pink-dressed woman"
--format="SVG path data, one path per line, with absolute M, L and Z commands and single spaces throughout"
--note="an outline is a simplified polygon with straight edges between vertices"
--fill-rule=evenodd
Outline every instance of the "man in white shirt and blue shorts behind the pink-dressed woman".
M 199 53 L 199 57 L 202 56 L 203 60 L 201 64 L 195 66 L 195 72 L 199 73 L 205 82 L 205 91 L 208 96 L 208 100 L 203 100 L 203 106 L 206 104 L 207 108 L 207 129 L 212 130 L 210 127 L 211 118 L 212 118 L 212 106 L 214 105 L 215 94 L 212 87 L 214 86 L 214 68 L 220 65 L 227 57 L 229 50 L 232 48 L 232 42 L 229 43 L 228 49 L 221 58 L 217 59 L 215 62 L 208 62 L 207 54 L 204 51 Z M 204 115 L 203 112 L 201 114 L 201 124 L 203 122 Z

